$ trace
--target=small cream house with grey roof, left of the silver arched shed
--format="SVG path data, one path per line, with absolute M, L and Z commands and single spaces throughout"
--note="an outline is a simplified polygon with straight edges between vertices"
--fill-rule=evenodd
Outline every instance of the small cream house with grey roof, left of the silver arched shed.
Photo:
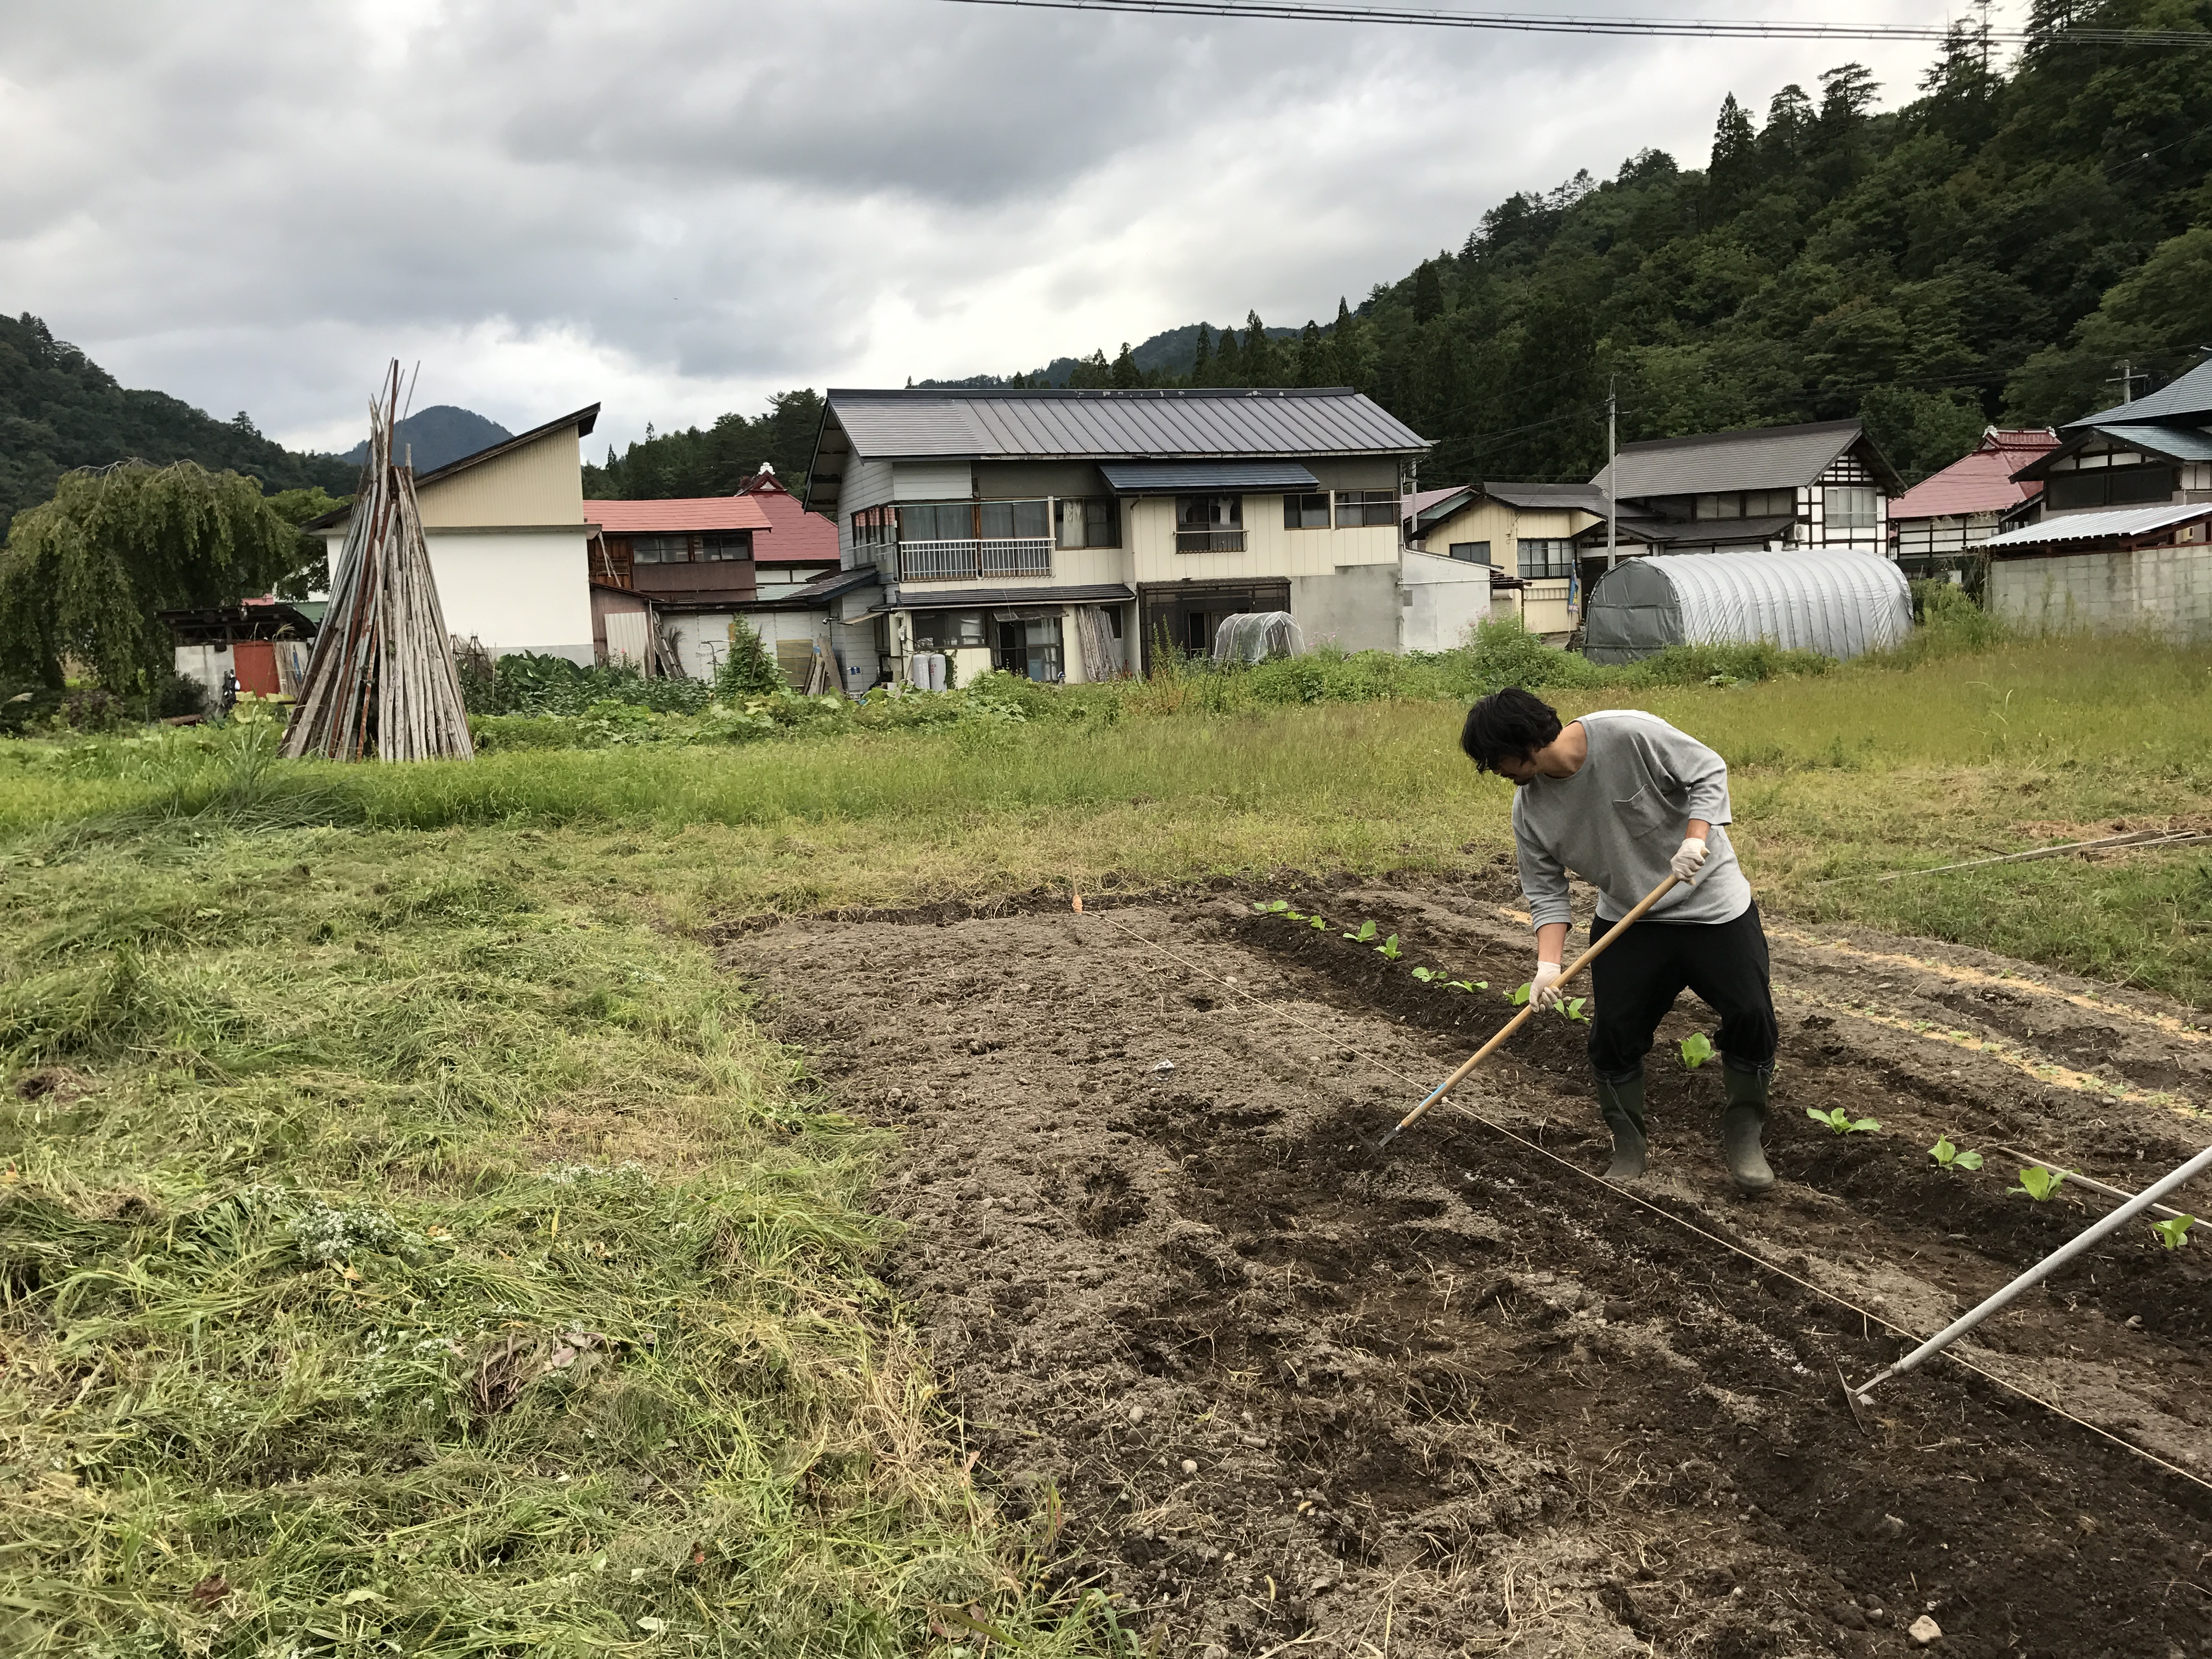
M 1486 566 L 1495 615 L 1564 639 L 1575 628 L 1575 535 L 1604 515 L 1604 491 L 1590 484 L 1460 484 L 1413 495 L 1405 535 L 1422 553 Z

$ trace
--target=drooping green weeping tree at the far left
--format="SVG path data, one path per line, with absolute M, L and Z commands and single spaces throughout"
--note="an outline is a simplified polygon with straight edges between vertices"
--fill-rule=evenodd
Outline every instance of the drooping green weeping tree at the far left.
M 190 460 L 64 473 L 0 551 L 0 672 L 62 686 L 64 661 L 113 692 L 170 664 L 155 613 L 237 604 L 299 562 L 299 531 L 261 484 Z

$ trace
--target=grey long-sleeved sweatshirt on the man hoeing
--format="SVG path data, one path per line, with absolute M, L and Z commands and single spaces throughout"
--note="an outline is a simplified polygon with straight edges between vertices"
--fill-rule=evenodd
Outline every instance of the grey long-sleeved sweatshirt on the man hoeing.
M 1571 779 L 1535 776 L 1513 792 L 1513 841 L 1535 927 L 1568 920 L 1566 872 L 1597 887 L 1597 914 L 1617 922 L 1657 887 L 1690 818 L 1712 825 L 1694 887 L 1677 887 L 1650 916 L 1732 922 L 1752 905 L 1736 849 L 1721 827 L 1728 761 L 1657 714 L 1608 708 L 1582 717 L 1590 757 Z

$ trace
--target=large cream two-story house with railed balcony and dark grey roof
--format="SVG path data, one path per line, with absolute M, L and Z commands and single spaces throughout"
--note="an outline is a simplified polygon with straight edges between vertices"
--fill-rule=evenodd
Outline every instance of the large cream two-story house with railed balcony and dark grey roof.
M 942 650 L 960 684 L 1086 681 L 1210 650 L 1248 611 L 1396 650 L 1422 449 L 1347 387 L 832 389 L 807 504 L 836 518 L 845 571 L 876 577 L 880 677 Z M 858 619 L 863 595 L 841 606 Z

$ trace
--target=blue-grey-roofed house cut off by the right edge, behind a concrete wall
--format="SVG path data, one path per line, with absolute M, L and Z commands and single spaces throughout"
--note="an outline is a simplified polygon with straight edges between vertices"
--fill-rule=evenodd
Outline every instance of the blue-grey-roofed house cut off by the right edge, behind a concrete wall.
M 2031 626 L 2212 635 L 2212 361 L 2070 420 L 2013 478 L 2042 491 L 1982 544 L 1991 611 Z

